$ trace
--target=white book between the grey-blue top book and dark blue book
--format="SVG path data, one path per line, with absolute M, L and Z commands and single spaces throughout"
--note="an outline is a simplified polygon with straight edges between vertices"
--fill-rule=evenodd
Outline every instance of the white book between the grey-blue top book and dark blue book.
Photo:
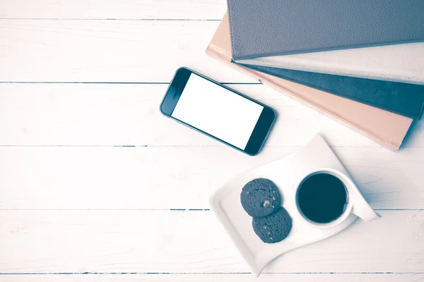
M 424 42 L 236 61 L 257 66 L 424 85 Z

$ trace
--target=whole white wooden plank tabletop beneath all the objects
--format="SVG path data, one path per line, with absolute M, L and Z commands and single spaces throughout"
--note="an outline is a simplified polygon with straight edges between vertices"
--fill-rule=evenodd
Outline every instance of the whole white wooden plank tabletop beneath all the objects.
M 0 0 L 0 281 L 256 281 L 209 210 L 225 180 L 322 133 L 382 219 L 259 281 L 424 281 L 424 122 L 399 152 L 214 61 L 225 0 Z M 163 117 L 189 66 L 273 106 L 247 157 Z

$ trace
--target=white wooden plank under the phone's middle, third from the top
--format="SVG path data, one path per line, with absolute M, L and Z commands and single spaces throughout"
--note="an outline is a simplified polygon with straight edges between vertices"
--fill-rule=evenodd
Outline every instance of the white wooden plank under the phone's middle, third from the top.
M 264 85 L 230 85 L 278 112 L 267 146 L 299 146 L 319 130 L 334 147 L 379 147 Z M 0 145 L 224 146 L 165 118 L 167 85 L 0 84 Z M 422 126 L 423 121 L 418 122 Z M 406 147 L 423 147 L 413 130 Z

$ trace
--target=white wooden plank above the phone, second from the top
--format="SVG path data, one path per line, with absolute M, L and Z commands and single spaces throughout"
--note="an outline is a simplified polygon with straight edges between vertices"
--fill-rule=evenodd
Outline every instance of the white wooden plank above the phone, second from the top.
M 257 82 L 205 54 L 218 21 L 0 20 L 1 81 L 169 82 L 189 66 Z

